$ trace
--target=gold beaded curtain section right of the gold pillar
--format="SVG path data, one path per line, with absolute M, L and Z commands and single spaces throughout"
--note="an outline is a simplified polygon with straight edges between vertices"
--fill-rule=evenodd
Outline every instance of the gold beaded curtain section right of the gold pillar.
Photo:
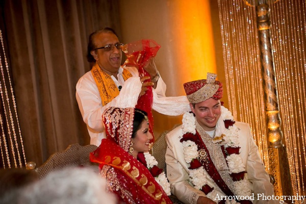
M 306 3 L 282 0 L 271 6 L 274 65 L 293 194 L 306 184 Z

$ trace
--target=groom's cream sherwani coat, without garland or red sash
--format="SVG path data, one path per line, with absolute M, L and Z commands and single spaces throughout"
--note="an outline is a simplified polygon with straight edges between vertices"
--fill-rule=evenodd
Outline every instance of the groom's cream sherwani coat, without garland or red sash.
M 257 194 L 262 193 L 265 196 L 272 196 L 273 186 L 270 183 L 268 173 L 265 171 L 258 146 L 252 138 L 249 125 L 243 122 L 236 122 L 235 125 L 240 129 L 238 133 L 241 147 L 240 156 L 245 165 L 248 184 L 252 192 L 254 192 L 254 198 L 257 199 Z M 228 167 L 220 145 L 213 143 L 212 138 L 202 130 L 202 127 L 197 122 L 196 130 L 205 143 L 210 157 L 223 181 L 233 192 L 233 180 L 228 173 Z M 198 197 L 205 196 L 205 193 L 193 188 L 193 185 L 189 181 L 188 167 L 190 165 L 184 159 L 183 144 L 180 142 L 182 136 L 182 125 L 176 127 L 166 136 L 168 144 L 166 151 L 167 177 L 171 184 L 172 194 L 184 203 L 196 203 Z M 225 195 L 212 179 L 209 179 L 207 184 L 217 191 L 218 196 Z M 253 203 L 279 203 L 279 201 L 254 200 Z

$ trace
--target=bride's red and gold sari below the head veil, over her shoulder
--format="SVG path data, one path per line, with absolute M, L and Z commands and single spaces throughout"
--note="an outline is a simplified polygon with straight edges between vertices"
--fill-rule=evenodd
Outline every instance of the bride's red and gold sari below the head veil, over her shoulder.
M 90 160 L 100 164 L 101 173 L 112 183 L 112 191 L 121 201 L 172 203 L 149 170 L 111 140 L 103 139 Z

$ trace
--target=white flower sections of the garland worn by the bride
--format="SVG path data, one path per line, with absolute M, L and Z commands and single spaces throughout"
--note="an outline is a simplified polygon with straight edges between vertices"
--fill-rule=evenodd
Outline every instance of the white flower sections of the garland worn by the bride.
M 148 169 L 158 165 L 155 157 L 152 156 L 149 152 L 144 152 L 144 158 Z M 163 188 L 168 196 L 171 195 L 170 184 L 164 171 L 155 177 L 155 181 Z

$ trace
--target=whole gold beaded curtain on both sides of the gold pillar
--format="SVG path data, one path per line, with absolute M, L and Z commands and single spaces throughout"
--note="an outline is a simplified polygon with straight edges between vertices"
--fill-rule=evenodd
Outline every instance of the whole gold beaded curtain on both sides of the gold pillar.
M 271 5 L 271 36 L 279 110 L 293 194 L 304 195 L 305 165 L 305 2 Z M 256 8 L 243 0 L 218 0 L 228 104 L 234 118 L 250 124 L 270 173 Z

